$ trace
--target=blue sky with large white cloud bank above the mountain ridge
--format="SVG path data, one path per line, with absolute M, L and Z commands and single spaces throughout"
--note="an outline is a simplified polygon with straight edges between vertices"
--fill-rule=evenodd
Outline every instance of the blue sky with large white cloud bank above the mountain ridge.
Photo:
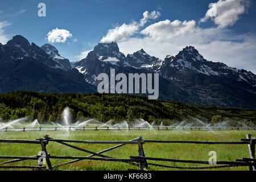
M 114 40 L 125 54 L 144 48 L 160 59 L 195 46 L 208 60 L 256 73 L 256 2 L 225 1 L 0 0 L 0 42 L 19 34 L 42 46 L 49 43 L 48 32 L 59 28 L 72 36 L 50 43 L 71 61 L 85 57 L 101 40 Z M 38 16 L 40 2 L 46 4 L 46 17 Z M 216 3 L 217 16 L 206 15 L 210 3 Z

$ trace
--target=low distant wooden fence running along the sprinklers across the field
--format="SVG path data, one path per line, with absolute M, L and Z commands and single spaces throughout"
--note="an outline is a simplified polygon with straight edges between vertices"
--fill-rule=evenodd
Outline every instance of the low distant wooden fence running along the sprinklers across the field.
M 18 132 L 18 131 L 132 131 L 132 130 L 155 130 L 155 131 L 232 131 L 232 130 L 256 130 L 255 127 L 111 127 L 111 126 L 86 126 L 86 127 L 5 127 L 0 132 Z

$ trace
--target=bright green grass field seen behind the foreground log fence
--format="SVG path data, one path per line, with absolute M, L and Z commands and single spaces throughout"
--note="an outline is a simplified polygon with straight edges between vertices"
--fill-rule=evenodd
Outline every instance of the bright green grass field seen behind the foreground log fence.
M 49 137 L 55 139 L 80 139 L 80 140 L 130 140 L 137 137 L 143 139 L 158 140 L 209 140 L 209 141 L 240 141 L 240 138 L 246 138 L 250 133 L 256 137 L 256 131 L 71 131 L 67 132 L 1 132 L 1 139 L 36 139 Z M 74 143 L 72 143 L 74 144 Z M 115 144 L 74 144 L 98 152 L 115 146 Z M 148 157 L 186 159 L 186 160 L 206 160 L 209 159 L 209 151 L 217 152 L 217 160 L 235 161 L 236 159 L 249 158 L 247 144 L 182 144 L 182 143 L 145 143 L 143 145 L 144 153 Z M 19 143 L 0 143 L 0 155 L 10 156 L 33 156 L 38 155 L 41 150 L 39 144 L 19 144 Z M 47 145 L 48 153 L 58 156 L 88 156 L 86 152 L 78 151 L 56 142 L 49 142 Z M 129 156 L 138 156 L 138 145 L 127 144 L 112 151 L 105 152 L 104 155 L 114 158 L 129 158 Z M 3 162 L 7 159 L 0 159 Z M 51 159 L 52 165 L 56 165 L 69 160 Z M 199 167 L 204 164 L 187 164 L 174 162 L 153 162 L 150 163 L 165 164 L 168 166 Z M 25 160 L 18 163 L 6 164 L 6 166 L 38 166 L 36 160 Z M 96 160 L 81 160 L 80 162 L 68 164 L 59 167 L 60 170 L 127 170 L 138 169 L 138 167 L 122 162 L 102 162 Z M 230 167 L 210 170 L 248 170 L 249 167 Z M 163 167 L 150 166 L 148 170 L 179 170 Z M 209 170 L 209 169 L 208 169 Z

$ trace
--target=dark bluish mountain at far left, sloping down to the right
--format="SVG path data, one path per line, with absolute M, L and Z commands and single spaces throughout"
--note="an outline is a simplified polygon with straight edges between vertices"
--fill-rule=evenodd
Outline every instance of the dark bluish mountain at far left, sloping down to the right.
M 95 86 L 88 84 L 76 68 L 71 68 L 69 60 L 62 57 L 55 59 L 56 56 L 52 59 L 51 56 L 51 52 L 30 44 L 20 35 L 14 36 L 5 45 L 1 44 L 0 92 L 96 92 Z

